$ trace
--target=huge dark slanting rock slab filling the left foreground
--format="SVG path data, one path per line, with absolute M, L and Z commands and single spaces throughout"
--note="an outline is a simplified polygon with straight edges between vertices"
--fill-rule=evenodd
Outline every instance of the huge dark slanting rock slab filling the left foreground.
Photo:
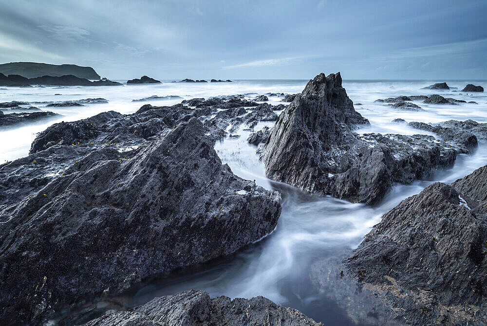
M 42 324 L 104 291 L 117 296 L 232 254 L 275 228 L 280 194 L 235 176 L 197 118 L 162 133 L 158 118 L 159 137 L 132 150 L 97 145 L 107 128 L 115 141 L 147 136 L 153 116 L 176 111 L 101 113 L 77 122 L 102 129 L 93 145 L 51 146 L 0 165 L 2 322 Z M 148 115 L 151 125 L 140 126 Z

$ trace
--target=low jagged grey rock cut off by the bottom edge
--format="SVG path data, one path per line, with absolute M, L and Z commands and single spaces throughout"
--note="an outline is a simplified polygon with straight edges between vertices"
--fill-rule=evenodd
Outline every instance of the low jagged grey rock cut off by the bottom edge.
M 155 298 L 145 305 L 129 311 L 104 315 L 84 326 L 129 324 L 153 326 L 322 325 L 296 309 L 278 306 L 262 296 L 250 300 L 241 298 L 231 300 L 225 296 L 211 299 L 206 292 L 189 290 Z

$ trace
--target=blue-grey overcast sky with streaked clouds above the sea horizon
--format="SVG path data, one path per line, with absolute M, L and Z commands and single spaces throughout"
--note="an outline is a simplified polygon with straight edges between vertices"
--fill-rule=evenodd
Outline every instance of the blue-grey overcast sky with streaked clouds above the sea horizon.
M 487 79 L 486 0 L 0 0 L 0 63 L 109 79 Z

